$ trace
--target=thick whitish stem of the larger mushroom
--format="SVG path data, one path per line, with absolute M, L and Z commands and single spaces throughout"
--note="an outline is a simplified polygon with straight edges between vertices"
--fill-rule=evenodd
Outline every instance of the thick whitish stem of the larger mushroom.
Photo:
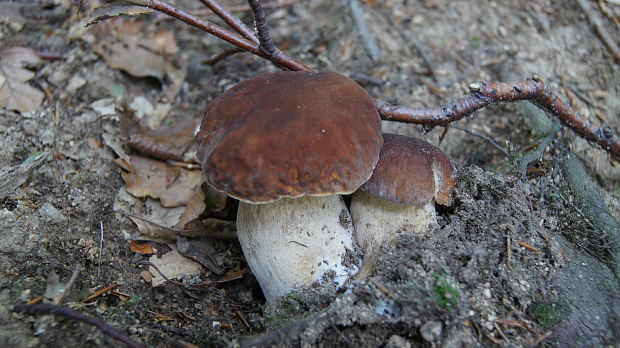
M 240 202 L 237 234 L 269 302 L 323 279 L 342 286 L 358 271 L 353 225 L 339 195 Z

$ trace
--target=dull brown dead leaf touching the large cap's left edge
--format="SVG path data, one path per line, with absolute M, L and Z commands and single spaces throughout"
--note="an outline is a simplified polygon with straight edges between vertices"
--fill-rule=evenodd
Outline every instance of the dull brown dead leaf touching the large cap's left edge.
M 128 144 L 152 157 L 183 161 L 185 153 L 196 142 L 195 134 L 199 126 L 199 118 L 189 118 L 154 131 L 137 130 Z

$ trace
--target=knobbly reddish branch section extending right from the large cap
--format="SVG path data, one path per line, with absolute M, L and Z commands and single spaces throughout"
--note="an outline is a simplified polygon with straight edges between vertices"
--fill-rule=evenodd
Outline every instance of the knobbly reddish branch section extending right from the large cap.
M 475 83 L 470 85 L 470 89 L 471 93 L 438 108 L 391 106 L 381 100 L 375 103 L 384 120 L 438 126 L 472 115 L 490 104 L 529 100 L 559 118 L 583 138 L 599 144 L 614 156 L 620 155 L 620 141 L 610 127 L 594 127 L 589 120 L 557 97 L 537 76 L 516 83 Z

